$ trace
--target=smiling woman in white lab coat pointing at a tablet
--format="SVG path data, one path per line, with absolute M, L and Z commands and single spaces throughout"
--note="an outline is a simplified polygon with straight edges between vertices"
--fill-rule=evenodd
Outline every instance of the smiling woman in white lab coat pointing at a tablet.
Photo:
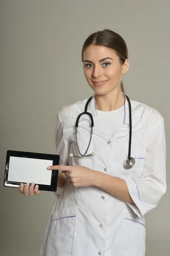
M 144 215 L 166 192 L 164 119 L 135 101 L 130 101 L 130 111 L 122 83 L 129 69 L 128 51 L 120 35 L 108 29 L 90 35 L 82 61 L 95 92 L 87 107 L 94 119 L 92 140 L 89 145 L 87 114 L 79 119 L 77 143 L 75 136 L 76 119 L 88 99 L 61 108 L 55 129 L 60 166 L 47 169 L 61 171 L 58 188 L 63 190 L 61 195 L 55 193 L 59 199 L 40 256 L 144 256 Z M 129 152 L 130 113 L 133 168 L 129 169 L 124 160 Z M 22 185 L 20 192 L 39 194 L 34 186 Z

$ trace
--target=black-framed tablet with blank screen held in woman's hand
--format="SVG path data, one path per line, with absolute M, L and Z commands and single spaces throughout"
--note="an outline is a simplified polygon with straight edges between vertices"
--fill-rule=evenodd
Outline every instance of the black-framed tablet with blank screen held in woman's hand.
M 19 188 L 21 183 L 34 182 L 39 190 L 56 191 L 58 170 L 47 170 L 48 166 L 59 165 L 60 156 L 8 150 L 4 186 Z

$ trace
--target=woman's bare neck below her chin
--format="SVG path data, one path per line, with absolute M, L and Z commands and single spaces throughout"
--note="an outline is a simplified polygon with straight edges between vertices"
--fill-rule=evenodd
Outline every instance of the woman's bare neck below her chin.
M 95 94 L 95 107 L 100 111 L 113 111 L 124 105 L 125 98 L 121 90 L 106 95 Z

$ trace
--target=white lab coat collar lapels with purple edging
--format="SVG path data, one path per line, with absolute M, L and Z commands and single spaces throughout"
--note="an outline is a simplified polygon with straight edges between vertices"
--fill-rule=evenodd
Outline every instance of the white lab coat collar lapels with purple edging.
M 129 104 L 128 104 L 127 98 L 126 98 L 124 93 L 123 93 L 123 95 L 125 97 L 125 102 L 124 102 L 124 124 L 125 125 L 129 125 Z M 133 119 L 133 106 L 132 106 L 132 102 L 131 101 L 130 101 L 130 103 L 131 103 L 132 119 Z M 92 99 L 91 99 L 91 101 L 89 103 L 87 111 L 89 113 L 91 113 L 93 117 L 98 115 L 98 113 L 96 111 L 96 107 L 95 107 L 95 94 L 92 96 Z

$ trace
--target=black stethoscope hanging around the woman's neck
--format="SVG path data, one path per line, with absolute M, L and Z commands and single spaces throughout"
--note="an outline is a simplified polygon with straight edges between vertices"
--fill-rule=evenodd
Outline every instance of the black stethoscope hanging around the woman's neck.
M 126 96 L 126 95 L 125 95 Z M 93 96 L 92 96 L 93 97 Z M 76 120 L 76 123 L 75 123 L 75 140 L 76 140 L 76 145 L 77 145 L 77 148 L 78 148 L 78 153 L 81 155 L 80 157 L 78 156 L 75 156 L 74 154 L 69 154 L 70 157 L 78 157 L 78 158 L 81 158 L 81 157 L 89 157 L 89 156 L 95 156 L 95 152 L 92 152 L 91 154 L 88 154 L 86 155 L 88 149 L 89 149 L 89 146 L 90 146 L 90 143 L 91 143 L 91 140 L 92 140 L 92 133 L 93 133 L 93 127 L 94 127 L 94 121 L 93 121 L 93 117 L 92 117 L 92 114 L 87 112 L 87 107 L 89 105 L 89 102 L 91 101 L 92 97 L 90 97 L 86 103 L 86 106 L 85 106 L 85 110 L 83 113 L 79 114 L 77 120 Z M 135 159 L 133 157 L 130 157 L 130 154 L 131 154 L 131 142 L 132 142 L 132 109 L 131 109 L 131 104 L 130 104 L 130 99 L 126 96 L 127 98 L 127 101 L 128 101 L 128 105 L 129 105 L 129 151 L 128 151 L 128 158 L 126 160 L 124 160 L 124 168 L 125 169 L 130 169 L 132 168 L 134 165 L 135 165 Z M 85 151 L 84 154 L 81 154 L 81 151 L 78 147 L 78 139 L 77 139 L 77 133 L 78 133 L 78 122 L 79 122 L 79 119 L 81 118 L 82 115 L 89 115 L 90 116 L 90 119 L 91 119 L 91 131 L 90 131 L 90 139 L 89 139 L 89 144 L 87 146 L 87 149 Z

